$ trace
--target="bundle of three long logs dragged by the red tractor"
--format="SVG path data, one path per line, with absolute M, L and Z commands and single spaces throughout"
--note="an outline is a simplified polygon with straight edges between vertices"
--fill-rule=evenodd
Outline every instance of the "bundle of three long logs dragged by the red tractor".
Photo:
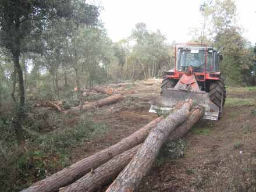
M 136 191 L 150 170 L 163 142 L 183 137 L 204 114 L 201 106 L 186 101 L 166 118 L 159 117 L 119 143 L 47 177 L 22 192 Z

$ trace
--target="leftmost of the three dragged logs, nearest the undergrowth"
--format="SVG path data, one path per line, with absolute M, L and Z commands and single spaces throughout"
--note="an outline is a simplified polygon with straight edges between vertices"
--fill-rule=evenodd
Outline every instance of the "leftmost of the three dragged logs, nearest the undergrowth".
M 121 140 L 119 143 L 112 145 L 105 150 L 99 151 L 90 157 L 81 159 L 73 165 L 70 165 L 69 167 L 55 173 L 54 175 L 51 175 L 46 179 L 33 184 L 29 188 L 24 189 L 22 192 L 56 191 L 63 186 L 67 186 L 68 184 L 73 183 L 75 180 L 90 172 L 91 169 L 95 169 L 103 163 L 109 161 L 109 159 L 116 157 L 116 155 L 119 155 L 122 152 L 130 150 L 130 148 L 143 143 L 145 137 L 147 137 L 147 134 L 152 129 L 152 127 L 155 127 L 161 120 L 162 117 L 152 120 L 152 122 L 131 134 L 129 137 L 123 138 L 123 140 Z

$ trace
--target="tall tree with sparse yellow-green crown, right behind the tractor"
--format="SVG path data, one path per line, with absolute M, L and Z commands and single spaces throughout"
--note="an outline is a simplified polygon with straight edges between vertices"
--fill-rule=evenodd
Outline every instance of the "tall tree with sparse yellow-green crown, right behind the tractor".
M 229 84 L 248 81 L 253 65 L 251 46 L 242 37 L 242 29 L 237 24 L 237 8 L 232 0 L 206 1 L 200 6 L 201 27 L 195 29 L 193 41 L 207 44 L 221 51 L 222 75 Z

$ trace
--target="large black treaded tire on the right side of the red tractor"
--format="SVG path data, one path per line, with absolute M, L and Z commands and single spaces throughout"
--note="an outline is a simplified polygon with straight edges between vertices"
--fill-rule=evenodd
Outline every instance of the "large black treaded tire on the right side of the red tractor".
M 222 98 L 222 94 L 223 94 L 223 98 Z M 222 79 L 222 77 L 220 77 L 218 81 L 211 83 L 209 87 L 209 95 L 210 95 L 210 100 L 215 105 L 217 105 L 221 110 L 221 104 L 223 108 L 223 105 L 225 104 L 225 101 L 226 101 L 226 88 L 225 88 L 224 80 Z

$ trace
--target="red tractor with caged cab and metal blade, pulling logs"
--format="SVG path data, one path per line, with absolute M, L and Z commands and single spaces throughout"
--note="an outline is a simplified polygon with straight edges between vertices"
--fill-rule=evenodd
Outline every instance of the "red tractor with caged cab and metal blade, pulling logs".
M 218 120 L 226 98 L 220 60 L 219 52 L 207 45 L 176 44 L 174 70 L 165 72 L 162 81 L 161 108 L 193 98 L 205 106 L 204 119 Z M 154 109 L 151 107 L 151 111 Z

